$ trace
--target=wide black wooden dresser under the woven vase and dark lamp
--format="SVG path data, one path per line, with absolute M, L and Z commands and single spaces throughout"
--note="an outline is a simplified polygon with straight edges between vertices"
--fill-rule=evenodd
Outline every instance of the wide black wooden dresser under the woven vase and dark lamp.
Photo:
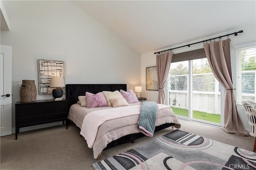
M 35 102 L 20 102 L 15 104 L 15 139 L 19 128 L 41 125 L 58 121 L 66 121 L 68 129 L 68 100 L 37 100 Z

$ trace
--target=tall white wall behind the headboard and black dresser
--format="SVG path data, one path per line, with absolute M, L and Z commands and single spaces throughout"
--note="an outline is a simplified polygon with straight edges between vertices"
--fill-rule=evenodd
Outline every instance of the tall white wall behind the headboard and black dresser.
M 3 1 L 10 31 L 1 44 L 12 46 L 12 126 L 19 82 L 35 80 L 38 59 L 65 61 L 65 83 L 140 85 L 140 54 L 70 1 Z M 65 94 L 64 94 L 65 97 Z M 37 100 L 52 95 L 37 95 Z

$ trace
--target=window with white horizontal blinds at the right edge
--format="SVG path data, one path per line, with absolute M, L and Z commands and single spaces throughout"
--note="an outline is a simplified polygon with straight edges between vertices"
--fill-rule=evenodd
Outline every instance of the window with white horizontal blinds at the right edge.
M 256 43 L 235 46 L 236 49 L 236 104 L 243 100 L 256 102 Z

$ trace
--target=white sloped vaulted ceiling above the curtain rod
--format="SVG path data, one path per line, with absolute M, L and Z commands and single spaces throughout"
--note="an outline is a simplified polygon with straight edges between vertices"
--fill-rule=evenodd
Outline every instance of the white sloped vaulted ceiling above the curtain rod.
M 255 0 L 72 2 L 138 53 L 256 26 Z

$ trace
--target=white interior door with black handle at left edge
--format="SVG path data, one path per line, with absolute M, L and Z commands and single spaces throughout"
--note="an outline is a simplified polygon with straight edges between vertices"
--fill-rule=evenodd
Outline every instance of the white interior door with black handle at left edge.
M 12 134 L 12 47 L 1 45 L 0 136 Z

